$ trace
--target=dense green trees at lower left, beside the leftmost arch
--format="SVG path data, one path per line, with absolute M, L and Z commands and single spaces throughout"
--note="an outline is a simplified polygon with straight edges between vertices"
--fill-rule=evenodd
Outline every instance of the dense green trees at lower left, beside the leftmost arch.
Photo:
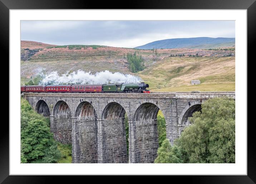
M 60 157 L 49 120 L 21 99 L 21 163 L 56 163 Z

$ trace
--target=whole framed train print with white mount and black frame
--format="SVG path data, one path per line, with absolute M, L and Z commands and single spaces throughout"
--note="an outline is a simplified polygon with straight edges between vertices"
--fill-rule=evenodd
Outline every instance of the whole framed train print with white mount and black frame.
M 7 55 L 9 46 L 10 63 L 0 181 L 189 175 L 192 183 L 255 183 L 247 60 L 255 44 L 256 2 L 114 4 L 0 1 L 2 51 Z M 215 97 L 224 98 L 201 106 Z M 230 119 L 212 117 L 212 124 L 217 120 L 209 132 L 182 137 L 215 107 L 215 116 Z M 218 144 L 201 142 L 205 157 L 191 151 L 193 138 L 209 134 L 207 141 Z M 175 157 L 163 161 L 163 145 Z

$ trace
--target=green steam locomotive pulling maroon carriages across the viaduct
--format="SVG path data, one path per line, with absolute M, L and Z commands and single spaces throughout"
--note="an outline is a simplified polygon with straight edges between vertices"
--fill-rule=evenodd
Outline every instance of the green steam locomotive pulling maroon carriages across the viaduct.
M 20 92 L 34 93 L 150 93 L 148 84 L 142 83 L 116 83 L 116 84 L 84 84 L 84 85 L 39 85 L 21 86 Z

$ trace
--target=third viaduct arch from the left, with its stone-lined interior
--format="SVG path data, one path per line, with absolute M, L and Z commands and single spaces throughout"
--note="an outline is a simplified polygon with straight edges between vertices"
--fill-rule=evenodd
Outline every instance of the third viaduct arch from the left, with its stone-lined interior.
M 97 113 L 91 103 L 82 101 L 72 118 L 72 162 L 98 162 Z

